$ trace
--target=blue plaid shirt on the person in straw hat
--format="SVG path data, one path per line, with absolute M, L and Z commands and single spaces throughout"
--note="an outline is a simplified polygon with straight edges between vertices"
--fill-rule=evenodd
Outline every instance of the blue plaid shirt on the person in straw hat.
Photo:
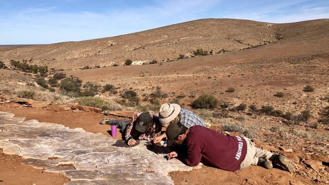
M 185 108 L 181 109 L 181 119 L 179 122 L 187 128 L 195 125 L 205 126 L 203 120 L 199 116 Z

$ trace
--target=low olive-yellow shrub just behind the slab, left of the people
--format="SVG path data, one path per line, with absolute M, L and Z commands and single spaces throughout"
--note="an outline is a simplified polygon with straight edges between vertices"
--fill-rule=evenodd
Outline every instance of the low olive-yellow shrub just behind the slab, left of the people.
M 104 101 L 101 98 L 98 97 L 81 97 L 76 100 L 77 103 L 80 105 L 86 105 L 86 106 L 91 106 L 91 107 L 97 107 L 102 109 L 102 111 L 105 110 L 111 110 L 111 111 L 116 111 L 116 110 L 121 110 L 120 107 L 114 104 L 110 104 L 106 101 Z

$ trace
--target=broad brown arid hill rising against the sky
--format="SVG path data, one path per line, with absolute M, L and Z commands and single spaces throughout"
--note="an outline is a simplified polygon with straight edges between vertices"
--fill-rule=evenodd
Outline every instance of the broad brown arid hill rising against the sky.
M 0 48 L 0 60 L 33 59 L 31 63 L 77 69 L 111 66 L 126 59 L 136 63 L 176 60 L 203 49 L 209 53 L 237 51 L 275 42 L 317 42 L 328 39 L 329 20 L 272 24 L 249 20 L 202 19 L 114 37 Z M 312 48 L 309 48 L 312 50 Z M 139 62 L 138 62 L 139 61 Z

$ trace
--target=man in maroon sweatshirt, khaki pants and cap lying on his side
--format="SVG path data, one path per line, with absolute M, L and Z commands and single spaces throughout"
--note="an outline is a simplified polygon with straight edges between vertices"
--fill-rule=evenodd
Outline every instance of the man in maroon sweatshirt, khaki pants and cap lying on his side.
M 180 158 L 188 166 L 199 162 L 227 171 L 258 165 L 272 168 L 272 163 L 294 172 L 294 162 L 285 156 L 255 147 L 247 137 L 229 136 L 203 126 L 170 124 L 166 130 L 167 146 L 179 145 L 179 150 L 167 155 L 168 160 Z

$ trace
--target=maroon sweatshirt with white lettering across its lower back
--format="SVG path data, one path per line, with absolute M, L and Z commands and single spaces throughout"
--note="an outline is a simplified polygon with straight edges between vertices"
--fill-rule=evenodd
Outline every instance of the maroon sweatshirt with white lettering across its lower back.
M 246 154 L 243 137 L 226 136 L 204 126 L 190 127 L 186 137 L 187 155 L 184 161 L 188 166 L 199 162 L 223 170 L 239 169 Z

